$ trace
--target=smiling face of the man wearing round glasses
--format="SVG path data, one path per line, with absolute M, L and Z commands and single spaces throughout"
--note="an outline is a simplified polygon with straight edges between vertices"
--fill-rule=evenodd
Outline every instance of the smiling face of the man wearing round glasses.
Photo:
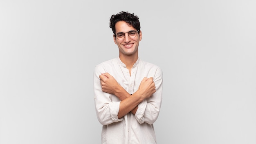
M 124 33 L 123 40 L 119 40 L 120 38 L 119 39 L 117 38 L 118 35 L 117 35 L 117 37 L 115 35 L 113 35 L 114 42 L 115 42 L 115 44 L 117 44 L 117 46 L 119 48 L 119 55 L 138 54 L 139 41 L 141 41 L 141 38 L 142 38 L 141 31 L 140 31 L 140 33 L 136 32 L 135 38 L 130 38 L 128 36 L 128 32 L 129 31 L 137 31 L 137 29 L 135 29 L 132 26 L 129 26 L 124 21 L 117 22 L 115 25 L 115 29 L 116 29 L 116 35 L 118 33 Z

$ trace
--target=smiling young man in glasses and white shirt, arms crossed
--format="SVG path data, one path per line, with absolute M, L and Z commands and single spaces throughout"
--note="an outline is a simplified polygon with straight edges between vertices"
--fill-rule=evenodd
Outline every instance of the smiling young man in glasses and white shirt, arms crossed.
M 102 144 L 156 144 L 153 123 L 162 103 L 162 70 L 138 57 L 139 18 L 121 11 L 110 18 L 119 57 L 94 69 L 94 103 Z

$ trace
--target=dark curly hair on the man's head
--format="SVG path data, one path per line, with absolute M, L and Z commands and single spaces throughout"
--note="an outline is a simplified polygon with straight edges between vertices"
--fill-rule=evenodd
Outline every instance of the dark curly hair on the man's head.
M 134 15 L 134 13 L 128 13 L 127 11 L 121 11 L 116 15 L 112 15 L 110 18 L 109 27 L 112 29 L 113 33 L 116 34 L 115 25 L 119 21 L 125 21 L 130 26 L 134 27 L 137 31 L 140 30 L 139 18 Z

